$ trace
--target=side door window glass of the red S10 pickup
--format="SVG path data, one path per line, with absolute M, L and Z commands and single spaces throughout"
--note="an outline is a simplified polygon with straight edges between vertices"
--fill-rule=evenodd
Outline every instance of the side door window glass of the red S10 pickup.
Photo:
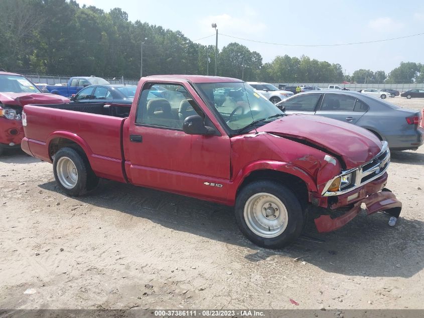
M 196 112 L 195 108 L 199 111 Z M 187 90 L 177 84 L 156 84 L 144 88 L 140 94 L 135 122 L 149 126 L 182 129 L 184 120 L 201 115 Z

